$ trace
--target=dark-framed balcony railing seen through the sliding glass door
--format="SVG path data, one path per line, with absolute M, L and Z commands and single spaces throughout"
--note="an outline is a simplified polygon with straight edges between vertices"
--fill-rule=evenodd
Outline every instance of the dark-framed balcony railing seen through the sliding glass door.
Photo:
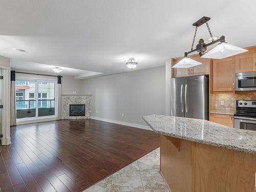
M 36 100 L 16 100 L 16 118 L 36 117 Z M 55 115 L 54 99 L 38 99 L 38 117 Z

